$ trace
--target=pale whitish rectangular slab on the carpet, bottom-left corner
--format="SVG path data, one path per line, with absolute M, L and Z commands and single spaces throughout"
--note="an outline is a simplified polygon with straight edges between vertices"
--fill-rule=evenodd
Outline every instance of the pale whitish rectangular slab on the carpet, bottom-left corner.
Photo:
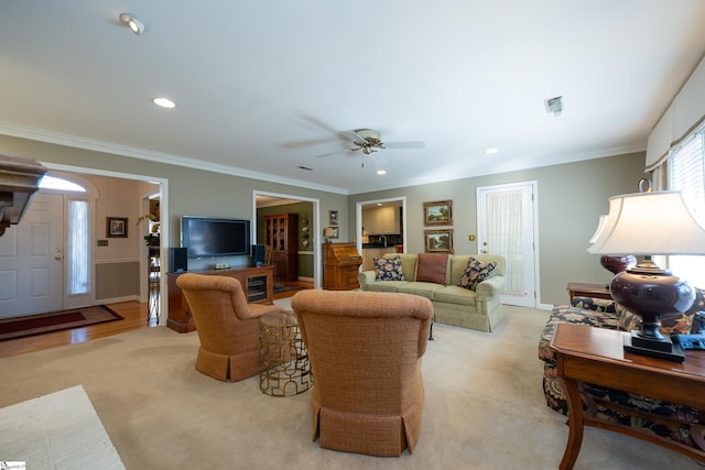
M 0 422 L 2 458 L 25 464 L 7 468 L 124 468 L 83 385 L 0 408 Z

